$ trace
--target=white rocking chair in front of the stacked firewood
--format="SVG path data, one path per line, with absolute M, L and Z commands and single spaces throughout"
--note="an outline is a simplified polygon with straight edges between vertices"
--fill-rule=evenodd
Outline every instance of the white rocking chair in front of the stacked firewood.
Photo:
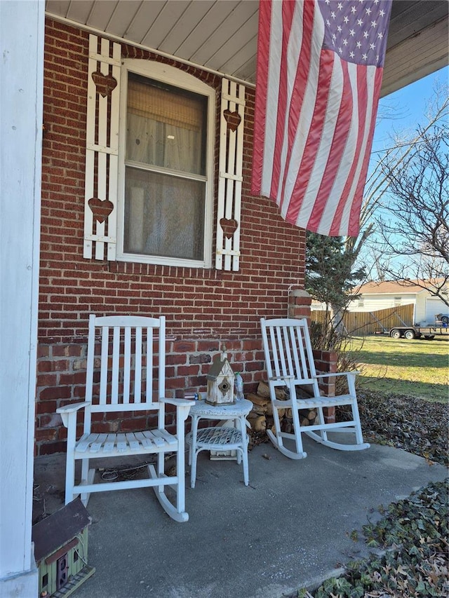
M 357 372 L 338 372 L 336 374 L 316 374 L 314 355 L 311 348 L 307 320 L 293 318 L 279 318 L 273 320 L 260 320 L 262 326 L 262 339 L 264 345 L 265 363 L 268 373 L 270 397 L 273 406 L 273 419 L 275 434 L 267 430 L 269 439 L 276 449 L 282 454 L 300 459 L 307 457 L 302 447 L 301 435 L 307 436 L 325 444 L 326 447 L 342 451 L 358 451 L 368 449 L 370 445 L 363 442 L 360 416 L 356 397 L 355 376 Z M 331 376 L 346 376 L 348 393 L 336 397 L 320 395 L 319 380 Z M 288 400 L 279 400 L 276 397 L 276 388 L 287 387 Z M 298 393 L 297 389 L 303 387 L 307 393 Z M 311 397 L 297 397 L 298 394 Z M 351 416 L 346 421 L 326 423 L 323 408 L 349 405 Z M 281 431 L 279 409 L 291 408 L 293 420 L 293 433 Z M 312 425 L 301 425 L 300 409 L 314 409 L 317 412 L 317 421 Z M 328 438 L 328 432 L 352 433 L 355 442 L 335 442 Z M 284 439 L 293 440 L 295 449 L 288 449 Z

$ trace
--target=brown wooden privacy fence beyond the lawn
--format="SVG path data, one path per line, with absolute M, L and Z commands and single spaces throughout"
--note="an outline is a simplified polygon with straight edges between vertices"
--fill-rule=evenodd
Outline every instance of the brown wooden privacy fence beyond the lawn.
M 325 311 L 312 311 L 312 322 L 324 322 Z M 394 326 L 413 325 L 413 304 L 380 309 L 378 311 L 347 311 L 343 317 L 343 325 L 348 334 L 356 337 L 384 332 Z

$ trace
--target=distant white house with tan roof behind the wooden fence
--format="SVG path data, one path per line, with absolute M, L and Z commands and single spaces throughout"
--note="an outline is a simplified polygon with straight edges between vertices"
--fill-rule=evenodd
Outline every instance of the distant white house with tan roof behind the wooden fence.
M 445 291 L 446 296 L 448 289 Z M 417 325 L 434 324 L 438 313 L 447 313 L 448 306 L 438 297 L 419 285 L 384 281 L 362 285 L 358 290 L 358 299 L 351 301 L 348 311 L 374 312 L 380 309 L 413 304 L 413 323 Z

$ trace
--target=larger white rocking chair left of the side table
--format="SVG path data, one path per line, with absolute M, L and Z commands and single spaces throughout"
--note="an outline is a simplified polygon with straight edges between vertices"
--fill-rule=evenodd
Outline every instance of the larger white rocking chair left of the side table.
M 170 517 L 178 522 L 189 519 L 185 512 L 185 420 L 194 402 L 165 397 L 165 350 L 163 316 L 90 316 L 86 400 L 57 409 L 67 427 L 66 505 L 79 494 L 87 505 L 91 492 L 153 487 Z M 166 405 L 176 409 L 174 434 L 166 430 Z M 83 412 L 84 423 L 83 435 L 76 440 L 78 412 Z M 126 414 L 131 417 L 136 412 L 149 424 L 145 428 L 155 429 L 135 433 L 91 432 L 91 420 L 99 421 L 99 414 L 104 428 L 108 416 L 120 413 L 121 418 Z M 152 463 L 147 466 L 149 477 L 144 480 L 95 482 L 95 468 L 89 468 L 91 458 L 148 454 L 154 454 L 157 463 L 156 468 Z M 164 473 L 166 454 L 176 454 L 173 475 Z M 81 480 L 77 484 L 76 461 L 81 461 Z M 166 486 L 173 488 L 175 498 L 168 498 Z

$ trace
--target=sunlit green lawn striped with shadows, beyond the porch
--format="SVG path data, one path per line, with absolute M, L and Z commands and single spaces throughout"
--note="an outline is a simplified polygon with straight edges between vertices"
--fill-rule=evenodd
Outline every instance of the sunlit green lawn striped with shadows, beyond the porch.
M 354 337 L 349 351 L 361 372 L 359 388 L 448 402 L 449 337 L 434 341 Z

